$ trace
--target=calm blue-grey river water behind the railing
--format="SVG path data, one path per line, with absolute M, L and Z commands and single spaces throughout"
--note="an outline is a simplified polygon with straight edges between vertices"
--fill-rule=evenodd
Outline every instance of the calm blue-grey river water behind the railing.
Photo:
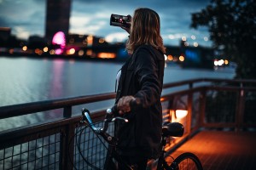
M 0 107 L 114 91 L 116 73 L 122 63 L 75 59 L 35 59 L 0 57 Z M 193 78 L 227 78 L 233 70 L 183 69 L 167 65 L 164 83 Z M 97 106 L 98 109 L 99 106 Z M 1 111 L 0 111 L 1 114 Z M 61 117 L 61 111 L 49 115 L 33 114 L 0 120 L 0 131 Z

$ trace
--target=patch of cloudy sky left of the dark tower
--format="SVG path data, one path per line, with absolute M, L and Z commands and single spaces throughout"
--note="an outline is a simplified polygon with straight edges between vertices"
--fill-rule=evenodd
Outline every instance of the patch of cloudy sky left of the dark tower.
M 4 0 L 0 5 L 0 26 L 11 27 L 12 34 L 28 38 L 33 34 L 43 37 L 45 3 L 38 0 Z

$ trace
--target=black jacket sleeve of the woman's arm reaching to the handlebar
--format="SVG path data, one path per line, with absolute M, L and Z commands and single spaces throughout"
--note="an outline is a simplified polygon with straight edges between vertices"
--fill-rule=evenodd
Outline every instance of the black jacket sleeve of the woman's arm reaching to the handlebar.
M 140 99 L 143 108 L 148 108 L 160 99 L 161 94 L 157 59 L 149 52 L 149 49 L 140 48 L 134 66 L 140 86 L 140 90 L 134 97 Z

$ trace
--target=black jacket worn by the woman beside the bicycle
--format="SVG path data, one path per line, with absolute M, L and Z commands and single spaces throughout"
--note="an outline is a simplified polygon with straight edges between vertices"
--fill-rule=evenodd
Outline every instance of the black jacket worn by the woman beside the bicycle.
M 140 99 L 136 111 L 124 116 L 128 123 L 116 125 L 119 153 L 124 156 L 157 158 L 160 155 L 164 54 L 149 45 L 135 50 L 121 69 L 116 103 L 125 95 Z

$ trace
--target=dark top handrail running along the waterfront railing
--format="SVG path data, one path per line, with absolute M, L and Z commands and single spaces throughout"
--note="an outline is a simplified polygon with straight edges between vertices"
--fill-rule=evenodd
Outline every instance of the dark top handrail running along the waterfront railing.
M 240 80 L 240 79 L 219 79 L 219 78 L 196 78 L 180 82 L 170 82 L 164 84 L 163 88 L 174 88 L 177 86 L 183 86 L 190 84 L 192 88 L 193 84 L 196 82 L 233 82 L 233 83 L 256 83 L 256 80 Z M 32 114 L 39 111 L 49 111 L 60 108 L 65 108 L 67 106 L 82 105 L 86 103 L 96 102 L 99 100 L 114 99 L 115 93 L 106 94 L 93 94 L 84 95 L 71 98 L 62 99 L 50 99 L 38 102 L 31 102 L 26 104 L 18 105 L 7 105 L 0 107 L 0 119 L 14 117 L 14 116 L 24 116 L 27 114 Z M 17 112 L 19 111 L 19 112 Z

